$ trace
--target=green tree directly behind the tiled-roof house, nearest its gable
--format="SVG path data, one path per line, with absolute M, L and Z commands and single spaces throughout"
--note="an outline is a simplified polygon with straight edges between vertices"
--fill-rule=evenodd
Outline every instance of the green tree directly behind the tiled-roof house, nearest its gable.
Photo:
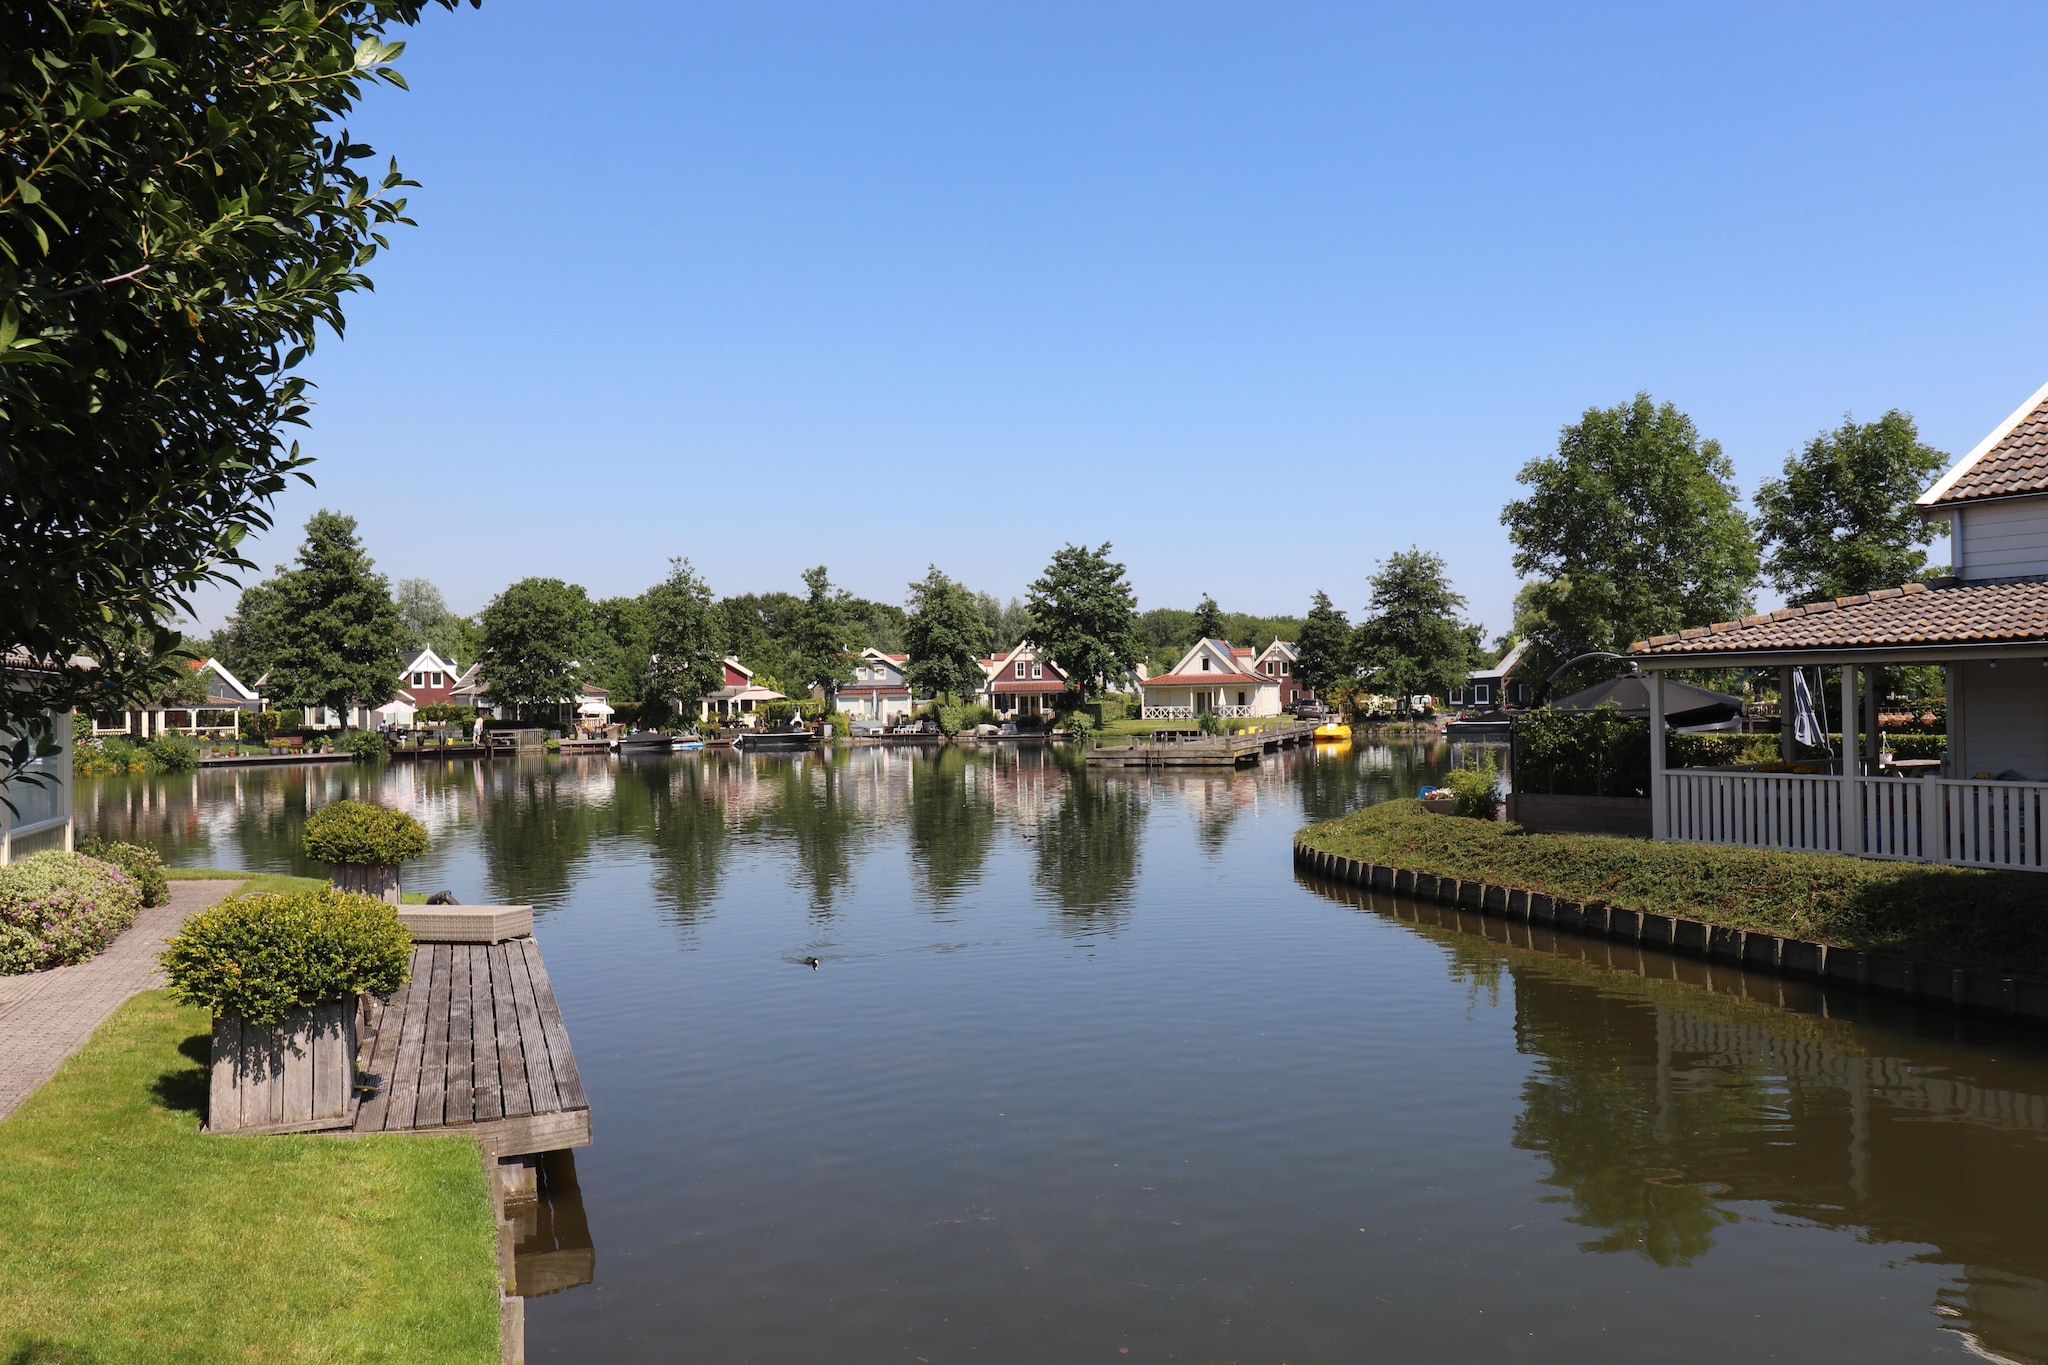
M 1864 424 L 1845 413 L 1757 487 L 1765 577 L 1792 604 L 1915 581 L 1933 528 L 1913 503 L 1948 458 L 1896 407 Z

